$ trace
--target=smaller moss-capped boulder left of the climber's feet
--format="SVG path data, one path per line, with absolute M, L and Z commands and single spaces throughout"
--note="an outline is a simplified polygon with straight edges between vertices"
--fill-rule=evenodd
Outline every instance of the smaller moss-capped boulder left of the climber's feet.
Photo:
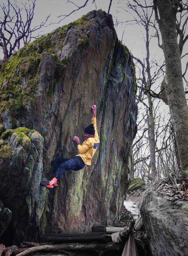
M 3 232 L 7 232 L 6 238 L 13 232 L 17 242 L 19 236 L 27 232 L 31 239 L 38 233 L 35 231 L 39 228 L 47 196 L 39 186 L 43 138 L 28 128 L 8 129 L 0 136 L 0 145 L 0 198 L 6 205 L 4 207 L 0 201 L 0 225 Z M 10 228 L 7 228 L 9 223 Z M 0 235 L 3 232 L 1 229 Z

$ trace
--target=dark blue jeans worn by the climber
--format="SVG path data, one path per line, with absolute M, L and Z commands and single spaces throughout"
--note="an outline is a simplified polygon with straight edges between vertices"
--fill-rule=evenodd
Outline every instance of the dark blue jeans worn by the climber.
M 54 177 L 59 181 L 66 170 L 79 171 L 84 168 L 84 166 L 85 164 L 80 156 L 75 156 L 71 159 L 56 157 L 53 163 Z

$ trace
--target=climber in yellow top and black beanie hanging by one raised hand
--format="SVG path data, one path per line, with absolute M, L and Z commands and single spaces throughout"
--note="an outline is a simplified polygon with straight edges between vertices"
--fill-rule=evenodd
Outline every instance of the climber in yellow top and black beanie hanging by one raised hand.
M 78 154 L 71 159 L 56 157 L 53 164 L 54 178 L 51 181 L 41 182 L 41 186 L 53 189 L 58 186 L 58 181 L 66 170 L 79 171 L 86 164 L 91 165 L 91 159 L 100 142 L 97 133 L 96 108 L 96 105 L 91 106 L 93 111 L 91 124 L 84 129 L 85 140 L 82 145 L 80 145 L 80 139 L 77 136 L 73 137 L 73 140 L 77 143 Z

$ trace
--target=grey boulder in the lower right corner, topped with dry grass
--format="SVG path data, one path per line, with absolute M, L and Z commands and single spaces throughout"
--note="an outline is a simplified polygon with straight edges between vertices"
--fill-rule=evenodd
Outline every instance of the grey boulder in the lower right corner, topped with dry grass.
M 164 192 L 157 188 L 144 194 L 140 209 L 151 253 L 188 255 L 188 201 L 180 198 L 173 203 L 170 189 Z

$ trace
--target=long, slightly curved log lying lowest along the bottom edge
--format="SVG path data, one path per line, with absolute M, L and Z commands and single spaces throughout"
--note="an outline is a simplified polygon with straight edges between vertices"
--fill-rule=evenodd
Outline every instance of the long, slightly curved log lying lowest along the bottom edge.
M 122 250 L 121 244 L 114 243 L 63 243 L 63 244 L 55 244 L 55 245 L 41 245 L 36 247 L 31 247 L 24 252 L 17 254 L 17 256 L 27 256 L 36 252 L 59 252 L 60 250 L 65 251 L 93 251 L 93 252 L 119 252 Z M 115 253 L 114 253 L 115 255 Z

